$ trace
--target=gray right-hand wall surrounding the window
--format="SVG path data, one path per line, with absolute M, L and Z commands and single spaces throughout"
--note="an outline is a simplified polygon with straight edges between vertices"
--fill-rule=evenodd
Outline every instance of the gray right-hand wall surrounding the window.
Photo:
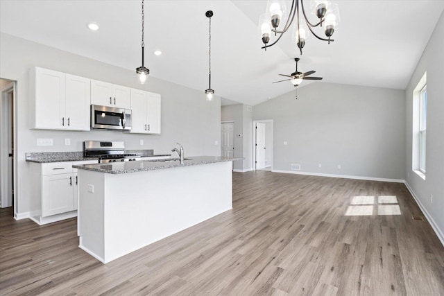
M 444 13 L 416 66 L 406 97 L 406 181 L 444 243 Z M 426 177 L 412 171 L 413 89 L 427 71 Z M 433 195 L 433 203 L 430 200 Z

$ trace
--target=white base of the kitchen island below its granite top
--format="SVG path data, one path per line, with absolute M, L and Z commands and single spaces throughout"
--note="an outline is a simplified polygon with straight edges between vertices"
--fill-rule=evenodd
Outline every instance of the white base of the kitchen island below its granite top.
M 232 162 L 78 177 L 79 247 L 103 263 L 232 209 Z

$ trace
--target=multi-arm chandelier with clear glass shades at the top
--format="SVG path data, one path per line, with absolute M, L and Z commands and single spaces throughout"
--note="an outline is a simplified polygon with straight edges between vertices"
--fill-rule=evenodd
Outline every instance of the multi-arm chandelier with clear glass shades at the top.
M 300 11 L 302 10 L 302 17 L 300 17 Z M 336 3 L 332 3 L 330 0 L 311 0 L 311 11 L 318 17 L 316 23 L 311 23 L 307 18 L 304 8 L 304 0 L 292 0 L 291 8 L 288 16 L 286 16 L 285 1 L 283 0 L 268 0 L 266 6 L 266 12 L 261 15 L 259 19 L 259 31 L 262 37 L 264 46 L 262 49 L 273 46 L 278 43 L 282 35 L 289 31 L 291 24 L 296 20 L 293 26 L 293 38 L 298 45 L 300 54 L 302 55 L 302 48 L 305 46 L 305 41 L 309 37 L 311 32 L 318 40 L 325 42 L 333 42 L 331 39 L 335 28 L 338 26 L 341 18 L 339 16 L 339 9 Z M 282 24 L 284 24 L 282 26 Z M 320 37 L 314 32 L 315 27 L 323 27 L 325 37 Z M 274 33 L 278 36 L 277 39 L 271 43 L 270 37 Z

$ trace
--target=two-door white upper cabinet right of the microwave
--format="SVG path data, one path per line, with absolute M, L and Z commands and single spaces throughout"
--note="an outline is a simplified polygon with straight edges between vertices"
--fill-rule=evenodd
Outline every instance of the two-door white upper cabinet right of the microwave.
M 131 89 L 131 133 L 160 134 L 160 94 Z

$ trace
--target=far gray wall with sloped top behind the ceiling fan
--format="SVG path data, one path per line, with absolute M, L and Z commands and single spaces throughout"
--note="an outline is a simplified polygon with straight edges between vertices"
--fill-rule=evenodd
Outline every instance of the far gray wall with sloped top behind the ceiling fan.
M 322 82 L 255 105 L 253 119 L 273 119 L 274 171 L 404 180 L 404 110 L 402 90 Z

